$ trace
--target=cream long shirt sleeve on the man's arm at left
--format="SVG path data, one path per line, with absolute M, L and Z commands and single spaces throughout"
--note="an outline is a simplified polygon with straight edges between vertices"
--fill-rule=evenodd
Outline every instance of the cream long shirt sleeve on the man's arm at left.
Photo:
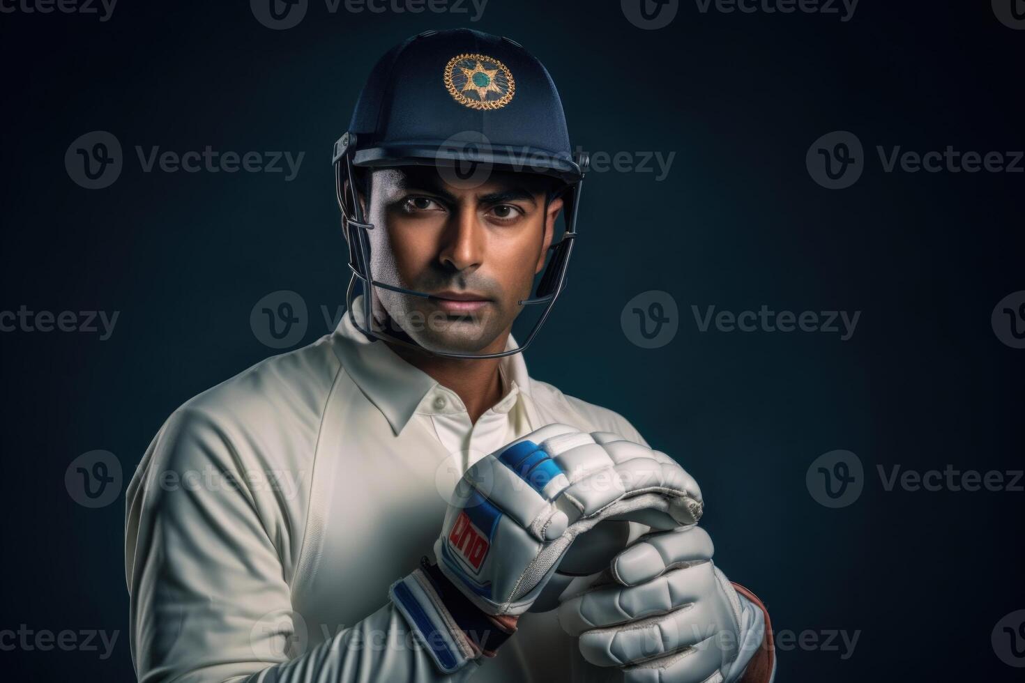
M 442 674 L 386 595 L 380 609 L 309 647 L 322 627 L 293 611 L 282 560 L 283 537 L 299 522 L 281 519 L 286 492 L 266 485 L 260 465 L 247 462 L 251 444 L 237 441 L 202 411 L 179 410 L 129 486 L 125 570 L 140 681 L 428 683 L 478 669 L 470 660 Z

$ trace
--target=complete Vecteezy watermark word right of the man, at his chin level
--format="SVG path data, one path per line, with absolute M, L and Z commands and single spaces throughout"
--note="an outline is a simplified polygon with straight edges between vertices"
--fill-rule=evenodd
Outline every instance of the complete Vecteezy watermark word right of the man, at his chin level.
M 848 341 L 854 336 L 855 328 L 861 318 L 861 311 L 851 313 L 846 310 L 805 310 L 795 313 L 790 310 L 779 312 L 762 304 L 757 311 L 742 310 L 734 313 L 729 310 L 715 311 L 715 306 L 700 307 L 691 305 L 694 322 L 699 332 L 708 332 L 714 325 L 719 332 L 817 332 L 838 334 L 840 341 Z

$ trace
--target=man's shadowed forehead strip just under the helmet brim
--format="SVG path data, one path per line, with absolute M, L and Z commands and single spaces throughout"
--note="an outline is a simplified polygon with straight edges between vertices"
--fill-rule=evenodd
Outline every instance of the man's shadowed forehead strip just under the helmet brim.
M 537 173 L 491 171 L 473 182 L 460 183 L 451 169 L 439 170 L 434 166 L 398 166 L 376 168 L 372 171 L 372 186 L 376 191 L 408 191 L 420 189 L 461 197 L 490 195 L 503 191 L 524 191 L 530 195 L 545 193 L 551 185 L 550 178 Z

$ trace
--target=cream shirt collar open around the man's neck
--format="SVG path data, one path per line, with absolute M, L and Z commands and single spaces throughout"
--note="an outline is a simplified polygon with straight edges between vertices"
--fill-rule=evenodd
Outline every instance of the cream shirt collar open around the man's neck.
M 361 294 L 353 301 L 353 315 L 360 325 L 363 325 L 363 296 Z M 432 401 L 424 400 L 428 393 L 438 391 L 439 388 L 451 393 L 450 389 L 408 364 L 384 342 L 379 339 L 368 339 L 353 325 L 348 318 L 348 311 L 342 314 L 341 322 L 334 331 L 333 341 L 338 359 L 345 372 L 384 415 L 396 434 L 402 431 L 418 410 L 428 413 L 452 412 L 451 408 L 447 411 L 433 410 Z M 516 340 L 509 335 L 505 349 L 516 346 Z M 493 410 L 506 413 L 512 408 L 517 396 L 530 397 L 530 377 L 527 374 L 527 364 L 523 359 L 523 353 L 514 353 L 500 358 L 498 372 L 505 393 Z M 454 393 L 452 395 L 458 400 Z M 459 401 L 458 411 L 462 410 L 464 409 Z

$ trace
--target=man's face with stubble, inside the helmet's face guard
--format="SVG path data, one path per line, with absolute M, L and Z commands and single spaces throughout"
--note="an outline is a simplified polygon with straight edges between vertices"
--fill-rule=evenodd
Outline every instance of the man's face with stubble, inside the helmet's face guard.
M 374 170 L 370 186 L 374 279 L 432 295 L 375 288 L 375 317 L 386 313 L 426 349 L 504 350 L 519 302 L 544 267 L 562 199 L 545 208 L 548 185 L 532 174 L 492 173 L 460 187 L 426 166 Z

